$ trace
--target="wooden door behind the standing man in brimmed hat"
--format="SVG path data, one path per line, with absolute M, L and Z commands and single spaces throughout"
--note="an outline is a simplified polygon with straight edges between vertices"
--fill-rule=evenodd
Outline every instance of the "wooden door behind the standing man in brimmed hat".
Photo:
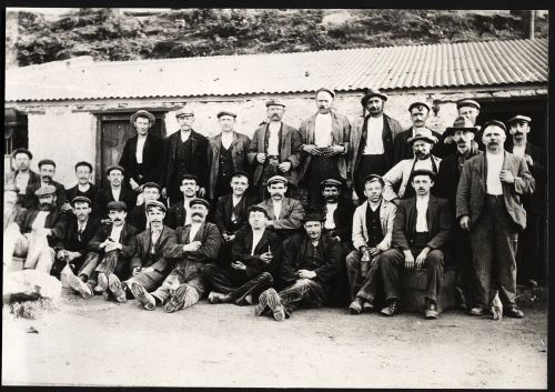
M 123 147 L 129 138 L 137 134 L 134 127 L 129 122 L 130 115 L 134 113 L 105 113 L 99 114 L 99 145 L 97 153 L 97 173 L 95 182 L 101 187 L 108 184 L 105 170 L 112 164 L 120 162 Z M 161 138 L 165 137 L 165 127 L 163 124 L 163 112 L 152 112 L 157 121 L 149 132 Z

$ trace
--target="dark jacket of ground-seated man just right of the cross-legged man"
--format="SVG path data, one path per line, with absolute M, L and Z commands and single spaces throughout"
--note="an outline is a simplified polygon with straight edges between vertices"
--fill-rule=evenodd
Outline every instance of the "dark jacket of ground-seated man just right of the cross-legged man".
M 310 270 L 316 273 L 314 280 L 330 287 L 331 281 L 341 269 L 341 243 L 330 235 L 321 235 L 319 247 L 323 250 L 324 260 L 320 265 L 305 262 L 304 255 L 309 247 L 312 244 L 304 232 L 285 240 L 280 268 L 281 281 L 286 285 L 293 284 L 299 279 L 296 271 Z

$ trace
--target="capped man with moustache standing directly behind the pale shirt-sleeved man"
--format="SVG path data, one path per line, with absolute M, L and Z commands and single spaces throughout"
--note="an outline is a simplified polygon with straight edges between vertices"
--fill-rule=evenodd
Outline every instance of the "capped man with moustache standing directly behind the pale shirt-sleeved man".
M 435 140 L 440 140 L 441 134 L 426 128 L 426 120 L 430 115 L 430 107 L 425 102 L 413 102 L 408 107 L 408 112 L 411 113 L 412 127 L 406 131 L 398 133 L 393 140 L 393 164 L 397 164 L 404 159 L 411 159 L 414 157 L 411 145 L 407 143 L 408 139 L 412 139 L 416 133 L 431 133 L 435 137 Z M 435 154 L 436 151 L 432 151 Z

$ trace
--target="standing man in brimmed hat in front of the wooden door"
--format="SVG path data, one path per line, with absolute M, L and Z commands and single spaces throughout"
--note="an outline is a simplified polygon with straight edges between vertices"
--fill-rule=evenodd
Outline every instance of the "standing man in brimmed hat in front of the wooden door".
M 139 110 L 129 119 L 137 134 L 125 141 L 120 165 L 125 170 L 128 182 L 134 191 L 145 182 L 160 180 L 163 141 L 149 133 L 155 121 L 154 115 L 145 110 Z

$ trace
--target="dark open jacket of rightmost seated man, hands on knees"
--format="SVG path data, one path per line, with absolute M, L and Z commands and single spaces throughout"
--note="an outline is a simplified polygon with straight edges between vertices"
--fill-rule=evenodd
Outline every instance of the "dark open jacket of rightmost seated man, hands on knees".
M 391 248 L 411 249 L 416 233 L 416 198 L 401 200 L 393 221 Z M 448 241 L 452 222 L 448 201 L 431 194 L 426 211 L 426 223 L 431 239 L 426 245 L 432 250 L 443 250 Z

